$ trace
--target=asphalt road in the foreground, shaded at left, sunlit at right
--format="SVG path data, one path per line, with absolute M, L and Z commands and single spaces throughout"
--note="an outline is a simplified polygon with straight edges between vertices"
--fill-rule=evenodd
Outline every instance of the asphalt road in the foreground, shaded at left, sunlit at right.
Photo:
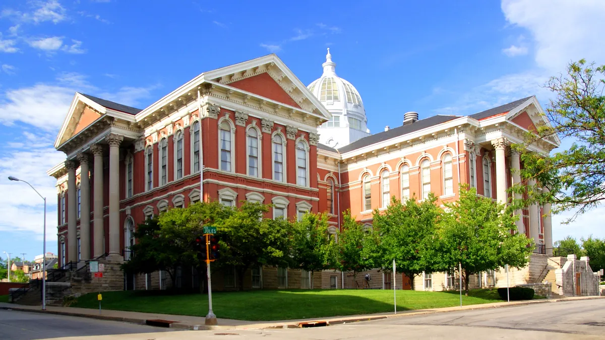
M 313 329 L 167 332 L 125 322 L 0 311 L 0 339 L 605 339 L 605 299 L 355 322 Z M 72 337 L 72 338 L 70 338 Z

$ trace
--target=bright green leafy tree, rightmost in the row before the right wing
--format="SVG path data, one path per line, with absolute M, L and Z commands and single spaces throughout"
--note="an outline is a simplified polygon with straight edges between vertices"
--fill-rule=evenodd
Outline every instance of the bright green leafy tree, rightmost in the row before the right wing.
M 516 232 L 515 218 L 503 204 L 464 185 L 460 186 L 459 200 L 445 206 L 433 248 L 435 268 L 445 271 L 462 264 L 467 295 L 470 275 L 506 264 L 520 268 L 528 263 L 533 242 Z

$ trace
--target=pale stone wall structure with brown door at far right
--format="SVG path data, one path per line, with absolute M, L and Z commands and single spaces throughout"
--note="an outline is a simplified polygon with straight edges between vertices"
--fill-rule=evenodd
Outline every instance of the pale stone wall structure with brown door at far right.
M 581 257 L 578 260 L 574 254 L 567 255 L 567 261 L 563 268 L 555 270 L 555 277 L 555 293 L 558 295 L 598 295 L 598 276 L 592 272 L 588 257 Z

